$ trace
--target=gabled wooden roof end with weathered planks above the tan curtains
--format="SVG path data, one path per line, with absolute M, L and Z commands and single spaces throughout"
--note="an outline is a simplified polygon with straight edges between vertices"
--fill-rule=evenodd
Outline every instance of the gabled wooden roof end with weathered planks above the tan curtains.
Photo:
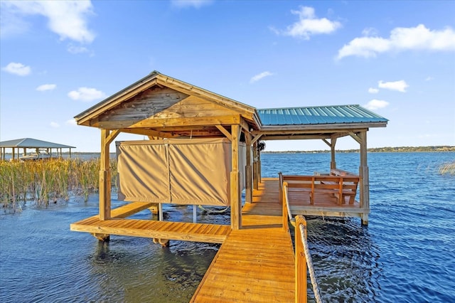
M 160 137 L 219 136 L 216 125 L 259 129 L 255 107 L 154 71 L 85 112 L 77 124 Z M 244 123 L 245 123 L 244 122 Z

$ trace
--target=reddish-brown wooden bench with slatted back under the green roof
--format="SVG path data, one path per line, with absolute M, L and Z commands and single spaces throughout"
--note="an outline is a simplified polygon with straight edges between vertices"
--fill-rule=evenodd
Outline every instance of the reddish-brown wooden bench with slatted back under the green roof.
M 329 176 L 280 176 L 279 178 L 288 183 L 289 188 L 299 188 L 310 195 L 310 203 L 314 204 L 315 193 L 330 193 L 338 198 L 338 205 L 345 203 L 345 197 L 349 197 L 349 204 L 355 201 L 359 177 L 353 174 L 349 176 L 337 176 L 336 171 Z

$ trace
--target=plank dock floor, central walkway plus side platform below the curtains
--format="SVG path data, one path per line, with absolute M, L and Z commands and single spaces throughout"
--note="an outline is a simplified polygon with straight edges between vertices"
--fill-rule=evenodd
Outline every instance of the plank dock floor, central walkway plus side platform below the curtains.
M 242 228 L 230 225 L 127 219 L 151 203 L 128 203 L 99 216 L 71 224 L 71 230 L 170 240 L 223 243 L 191 302 L 294 302 L 294 247 L 283 228 L 278 179 L 262 179 L 252 203 L 242 208 Z

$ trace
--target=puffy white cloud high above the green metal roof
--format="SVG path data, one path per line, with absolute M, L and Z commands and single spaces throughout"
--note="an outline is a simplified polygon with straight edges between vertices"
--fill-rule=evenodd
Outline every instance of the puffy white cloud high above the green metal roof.
M 338 28 L 341 28 L 341 23 L 338 21 L 330 21 L 327 18 L 316 18 L 314 8 L 309 6 L 301 6 L 299 11 L 292 10 L 291 13 L 298 15 L 299 21 L 288 26 L 286 31 L 282 32 L 286 36 L 309 40 L 310 36 L 332 33 Z M 274 31 L 277 33 L 276 30 Z

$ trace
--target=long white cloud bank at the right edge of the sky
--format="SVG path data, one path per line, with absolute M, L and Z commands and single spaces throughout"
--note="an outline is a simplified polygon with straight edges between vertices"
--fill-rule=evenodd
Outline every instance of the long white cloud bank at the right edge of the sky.
M 449 27 L 441 31 L 430 31 L 423 24 L 412 28 L 398 27 L 392 29 L 389 38 L 378 36 L 354 38 L 338 50 L 337 58 L 350 55 L 370 58 L 378 53 L 404 50 L 455 50 L 455 32 Z

